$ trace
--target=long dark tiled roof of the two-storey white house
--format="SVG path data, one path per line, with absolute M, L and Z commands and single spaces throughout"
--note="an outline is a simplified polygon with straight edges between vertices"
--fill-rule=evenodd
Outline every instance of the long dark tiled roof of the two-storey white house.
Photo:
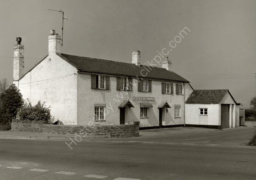
M 164 79 L 164 80 L 174 80 L 180 82 L 189 82 L 178 74 L 166 70 L 165 68 L 154 67 L 151 70 L 142 65 L 137 66 L 131 63 L 116 62 L 105 59 L 95 59 L 90 57 L 73 56 L 69 54 L 58 54 L 62 59 L 69 62 L 71 65 L 75 66 L 81 72 L 88 73 L 103 73 L 110 75 L 119 76 L 131 76 L 140 78 L 150 78 L 150 79 Z M 147 70 L 148 69 L 148 70 Z M 148 72 L 149 71 L 149 72 Z M 147 73 L 147 76 L 142 76 Z

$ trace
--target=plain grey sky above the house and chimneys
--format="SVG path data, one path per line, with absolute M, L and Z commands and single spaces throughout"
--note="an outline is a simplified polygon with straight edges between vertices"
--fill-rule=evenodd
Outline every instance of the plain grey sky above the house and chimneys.
M 0 0 L 0 79 L 12 83 L 16 37 L 27 72 L 50 30 L 61 35 L 62 14 L 47 9 L 67 18 L 61 53 L 130 63 L 140 51 L 144 64 L 176 39 L 172 70 L 194 89 L 229 89 L 243 108 L 256 96 L 255 0 Z

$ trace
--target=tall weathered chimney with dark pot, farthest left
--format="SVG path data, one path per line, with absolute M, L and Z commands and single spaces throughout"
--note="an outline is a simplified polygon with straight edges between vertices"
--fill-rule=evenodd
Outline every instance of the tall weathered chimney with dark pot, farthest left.
M 21 37 L 16 38 L 13 56 L 13 80 L 17 81 L 24 75 L 24 45 L 21 45 Z

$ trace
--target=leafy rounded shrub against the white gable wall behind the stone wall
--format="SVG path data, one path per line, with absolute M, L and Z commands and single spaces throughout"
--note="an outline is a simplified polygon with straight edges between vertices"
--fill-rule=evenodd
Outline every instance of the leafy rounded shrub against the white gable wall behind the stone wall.
M 45 105 L 45 102 L 41 103 L 41 101 L 38 101 L 35 106 L 32 106 L 29 102 L 28 105 L 25 105 L 24 107 L 20 108 L 20 110 L 17 113 L 17 118 L 20 120 L 30 120 L 30 121 L 48 121 L 49 124 L 52 124 L 53 117 L 50 113 L 50 107 L 47 107 Z

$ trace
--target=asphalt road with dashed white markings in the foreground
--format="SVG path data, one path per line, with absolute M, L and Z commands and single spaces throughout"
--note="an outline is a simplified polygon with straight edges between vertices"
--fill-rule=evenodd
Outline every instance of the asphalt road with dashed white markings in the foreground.
M 0 180 L 255 180 L 253 128 L 72 143 L 0 140 Z M 87 176 L 87 177 L 84 177 Z

